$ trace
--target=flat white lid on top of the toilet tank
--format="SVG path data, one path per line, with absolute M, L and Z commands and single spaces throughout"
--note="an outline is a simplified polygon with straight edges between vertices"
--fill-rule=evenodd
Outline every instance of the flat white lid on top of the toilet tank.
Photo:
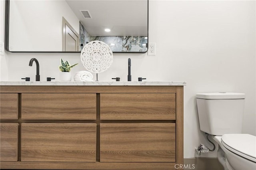
M 197 93 L 198 99 L 245 99 L 244 93 Z

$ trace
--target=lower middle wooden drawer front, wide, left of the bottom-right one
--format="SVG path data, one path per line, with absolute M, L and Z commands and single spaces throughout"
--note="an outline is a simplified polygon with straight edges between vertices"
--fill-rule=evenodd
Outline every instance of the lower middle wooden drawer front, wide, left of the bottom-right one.
M 21 161 L 96 162 L 96 124 L 22 123 Z

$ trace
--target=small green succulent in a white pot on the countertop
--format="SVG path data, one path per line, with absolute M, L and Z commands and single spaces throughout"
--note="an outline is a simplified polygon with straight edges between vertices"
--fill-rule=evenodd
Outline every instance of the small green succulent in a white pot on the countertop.
M 60 73 L 60 81 L 71 81 L 71 73 L 70 73 L 70 69 L 76 65 L 78 65 L 78 63 L 70 65 L 70 63 L 68 61 L 65 61 L 61 58 L 60 59 L 60 66 L 59 69 L 61 71 Z

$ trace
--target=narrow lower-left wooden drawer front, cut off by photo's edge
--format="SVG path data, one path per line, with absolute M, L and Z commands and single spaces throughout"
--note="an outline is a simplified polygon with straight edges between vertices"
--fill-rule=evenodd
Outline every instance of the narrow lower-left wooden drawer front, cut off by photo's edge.
M 0 160 L 18 161 L 18 123 L 0 124 Z

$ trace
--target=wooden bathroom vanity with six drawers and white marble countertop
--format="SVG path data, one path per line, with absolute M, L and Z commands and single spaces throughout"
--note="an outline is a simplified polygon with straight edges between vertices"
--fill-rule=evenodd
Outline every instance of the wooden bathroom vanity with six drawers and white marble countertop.
M 175 170 L 183 86 L 0 82 L 1 169 Z

